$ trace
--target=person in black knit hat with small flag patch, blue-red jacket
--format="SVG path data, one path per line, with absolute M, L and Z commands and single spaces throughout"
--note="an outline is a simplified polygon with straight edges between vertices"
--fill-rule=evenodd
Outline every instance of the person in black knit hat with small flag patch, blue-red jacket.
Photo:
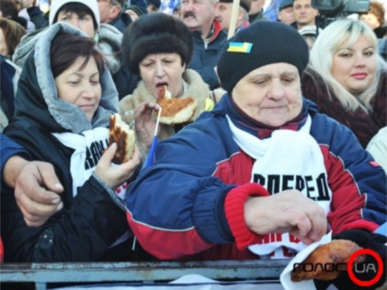
M 269 260 L 324 237 L 373 250 L 385 269 L 386 238 L 371 234 L 386 221 L 385 173 L 352 131 L 302 97 L 308 55 L 302 36 L 278 22 L 253 23 L 228 41 L 217 66 L 227 94 L 160 142 L 126 194 L 145 250 L 160 259 Z M 377 268 L 372 257 L 365 263 Z M 384 270 L 370 289 L 385 278 Z M 346 273 L 331 282 L 354 285 Z

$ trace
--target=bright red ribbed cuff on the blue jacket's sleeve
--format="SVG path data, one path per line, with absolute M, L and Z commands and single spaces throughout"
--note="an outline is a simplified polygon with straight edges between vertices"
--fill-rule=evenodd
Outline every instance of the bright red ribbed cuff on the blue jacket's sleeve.
M 269 192 L 260 184 L 246 183 L 233 188 L 227 193 L 224 208 L 236 246 L 243 250 L 259 243 L 264 235 L 258 235 L 247 228 L 244 220 L 244 203 L 249 196 L 268 196 Z

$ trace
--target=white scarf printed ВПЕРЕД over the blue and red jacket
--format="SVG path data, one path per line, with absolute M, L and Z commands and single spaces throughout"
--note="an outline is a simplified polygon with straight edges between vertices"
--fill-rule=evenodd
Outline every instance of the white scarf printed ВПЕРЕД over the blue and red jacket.
M 332 192 L 324 158 L 316 140 L 310 135 L 311 117 L 298 131 L 281 129 L 271 137 L 259 139 L 237 128 L 227 116 L 233 138 L 238 146 L 255 162 L 251 182 L 260 183 L 270 194 L 285 189 L 300 189 L 305 196 L 314 198 L 326 214 L 330 210 Z M 257 255 L 271 254 L 270 258 L 288 258 L 282 247 L 301 251 L 306 246 L 288 233 L 268 234 L 261 244 L 249 249 Z

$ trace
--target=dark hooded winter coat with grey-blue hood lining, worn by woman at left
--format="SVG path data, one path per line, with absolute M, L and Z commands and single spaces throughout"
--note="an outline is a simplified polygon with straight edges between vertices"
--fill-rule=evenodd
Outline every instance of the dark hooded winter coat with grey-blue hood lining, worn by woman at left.
M 73 197 L 70 159 L 73 149 L 51 133 L 106 127 L 118 108 L 117 91 L 108 70 L 100 77 L 102 97 L 90 122 L 79 108 L 57 97 L 49 64 L 51 39 L 58 31 L 83 35 L 70 25 L 57 23 L 41 33 L 26 60 L 15 101 L 15 115 L 5 134 L 17 141 L 32 160 L 53 165 L 64 192 L 63 209 L 35 228 L 28 227 L 12 189 L 2 192 L 1 237 L 8 262 L 75 262 L 128 259 L 110 247 L 128 231 L 116 194 L 93 174 Z M 130 245 L 126 245 L 130 249 Z M 113 254 L 113 252 L 116 252 Z M 130 252 L 128 250 L 127 252 Z

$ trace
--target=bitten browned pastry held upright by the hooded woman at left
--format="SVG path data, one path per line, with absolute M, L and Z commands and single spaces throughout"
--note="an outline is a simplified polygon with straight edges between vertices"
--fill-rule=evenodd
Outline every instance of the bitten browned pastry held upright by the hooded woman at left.
M 113 163 L 121 164 L 131 159 L 135 149 L 135 131 L 129 125 L 122 121 L 119 114 L 113 114 L 109 117 L 109 146 L 117 143 Z

